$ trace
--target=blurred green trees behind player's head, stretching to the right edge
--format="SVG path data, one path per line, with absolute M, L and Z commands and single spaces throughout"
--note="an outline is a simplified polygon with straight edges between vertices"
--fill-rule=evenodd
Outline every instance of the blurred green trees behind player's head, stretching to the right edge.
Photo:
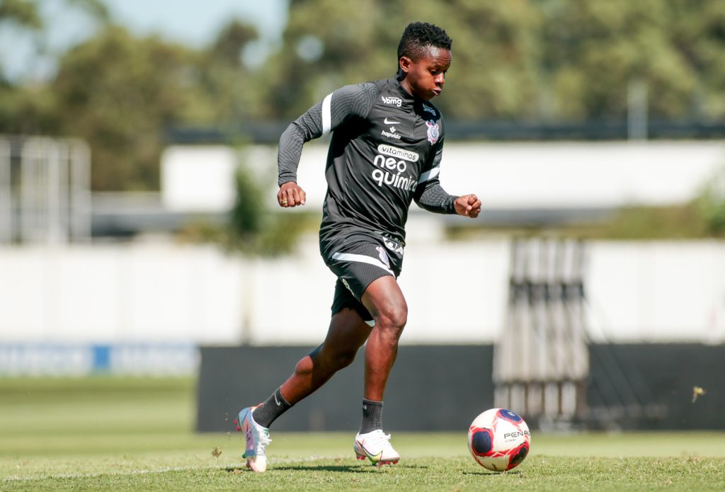
M 624 119 L 632 83 L 650 117 L 725 117 L 721 0 L 291 0 L 265 75 L 268 115 L 289 119 L 347 83 L 394 74 L 408 22 L 453 38 L 450 119 Z

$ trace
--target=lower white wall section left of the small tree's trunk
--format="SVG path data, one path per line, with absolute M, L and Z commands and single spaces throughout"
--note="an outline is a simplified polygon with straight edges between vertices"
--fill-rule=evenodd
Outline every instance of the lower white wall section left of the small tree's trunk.
M 204 246 L 0 249 L 3 342 L 227 342 L 239 260 Z

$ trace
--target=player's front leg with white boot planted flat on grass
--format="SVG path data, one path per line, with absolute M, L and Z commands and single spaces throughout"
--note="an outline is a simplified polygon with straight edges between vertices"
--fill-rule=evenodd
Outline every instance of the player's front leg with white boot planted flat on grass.
M 383 396 L 397 356 L 398 340 L 407 322 L 407 304 L 392 275 L 370 283 L 361 300 L 372 314 L 375 327 L 365 345 L 363 422 L 353 449 L 358 459 L 367 457 L 376 464 L 394 464 L 400 455 L 391 446 L 390 435 L 383 432 Z

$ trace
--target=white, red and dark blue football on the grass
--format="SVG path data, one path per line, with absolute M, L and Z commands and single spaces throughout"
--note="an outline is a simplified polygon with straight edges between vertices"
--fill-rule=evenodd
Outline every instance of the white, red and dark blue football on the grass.
M 505 472 L 529 454 L 531 433 L 518 414 L 508 409 L 486 410 L 468 428 L 468 451 L 482 467 Z

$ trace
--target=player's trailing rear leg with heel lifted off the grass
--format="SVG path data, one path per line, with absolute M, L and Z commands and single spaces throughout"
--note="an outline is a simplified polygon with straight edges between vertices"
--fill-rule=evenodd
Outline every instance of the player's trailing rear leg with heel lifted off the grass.
M 267 469 L 265 449 L 271 442 L 269 426 L 292 405 L 325 384 L 335 372 L 351 364 L 370 334 L 370 325 L 354 309 L 342 308 L 330 322 L 325 341 L 302 357 L 294 373 L 265 402 L 242 409 L 237 429 L 244 431 L 244 458 L 255 472 Z

